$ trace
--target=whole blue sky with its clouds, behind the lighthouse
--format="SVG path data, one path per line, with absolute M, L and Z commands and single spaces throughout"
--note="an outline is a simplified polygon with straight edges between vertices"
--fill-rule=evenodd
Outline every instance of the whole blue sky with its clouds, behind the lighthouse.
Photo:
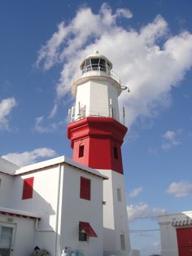
M 130 93 L 120 97 L 133 247 L 159 252 L 158 214 L 191 210 L 190 0 L 0 3 L 0 155 L 26 165 L 72 156 L 71 79 L 98 50 Z

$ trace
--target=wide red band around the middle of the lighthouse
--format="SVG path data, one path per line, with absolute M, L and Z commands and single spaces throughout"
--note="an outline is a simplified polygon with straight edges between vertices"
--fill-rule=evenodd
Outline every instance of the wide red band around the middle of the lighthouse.
M 68 125 L 73 160 L 123 174 L 121 144 L 127 127 L 112 117 L 85 117 Z

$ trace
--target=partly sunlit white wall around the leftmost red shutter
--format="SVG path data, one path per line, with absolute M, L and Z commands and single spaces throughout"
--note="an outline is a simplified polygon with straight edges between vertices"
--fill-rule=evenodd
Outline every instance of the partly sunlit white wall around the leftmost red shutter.
M 34 177 L 33 198 L 22 200 L 24 179 L 31 177 Z M 16 176 L 12 190 L 11 207 L 40 214 L 43 218 L 39 227 L 55 229 L 58 185 L 58 166 Z

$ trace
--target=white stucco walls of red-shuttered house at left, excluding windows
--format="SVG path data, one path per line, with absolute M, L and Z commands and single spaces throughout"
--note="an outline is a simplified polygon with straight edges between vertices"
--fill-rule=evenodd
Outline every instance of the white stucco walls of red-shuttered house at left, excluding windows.
M 19 246 L 17 249 L 19 254 L 11 256 L 26 256 L 36 245 L 41 249 L 47 249 L 52 256 L 60 256 L 61 249 L 65 246 L 83 249 L 85 256 L 103 255 L 102 177 L 65 163 L 35 171 L 30 170 L 15 177 L 7 174 L 2 176 L 4 181 L 7 179 L 5 184 L 11 194 L 9 197 L 5 196 L 5 188 L 0 188 L 3 191 L 2 199 L 9 202 L 8 205 L 1 206 L 28 211 L 41 217 L 36 225 L 36 222 L 30 218 L 13 216 L 12 223 L 15 224 L 16 230 L 20 231 L 16 232 L 15 236 L 20 244 L 15 244 Z M 91 201 L 80 199 L 81 176 L 91 179 Z M 33 198 L 22 200 L 24 179 L 31 177 L 34 177 Z M 8 218 L 6 216 L 5 219 Z M 98 237 L 90 237 L 88 242 L 78 241 L 80 221 L 90 223 Z M 23 244 L 21 237 L 25 232 L 31 235 L 24 237 Z

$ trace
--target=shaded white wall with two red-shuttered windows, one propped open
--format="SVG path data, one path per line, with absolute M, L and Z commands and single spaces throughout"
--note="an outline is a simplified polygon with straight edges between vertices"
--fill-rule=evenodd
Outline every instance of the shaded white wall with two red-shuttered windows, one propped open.
M 80 198 L 80 179 L 91 179 L 91 200 Z M 60 249 L 82 249 L 85 256 L 103 255 L 103 179 L 70 166 L 64 168 L 63 209 L 60 231 Z M 104 181 L 105 182 L 105 181 Z M 79 241 L 79 222 L 87 222 L 98 237 Z

